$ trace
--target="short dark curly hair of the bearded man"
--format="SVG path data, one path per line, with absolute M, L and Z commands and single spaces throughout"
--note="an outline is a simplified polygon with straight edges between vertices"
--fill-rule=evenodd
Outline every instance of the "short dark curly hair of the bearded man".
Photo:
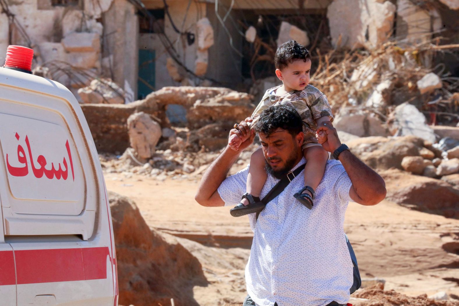
M 261 112 L 253 127 L 255 132 L 269 136 L 277 128 L 296 136 L 303 131 L 303 122 L 298 112 L 291 106 L 270 106 Z

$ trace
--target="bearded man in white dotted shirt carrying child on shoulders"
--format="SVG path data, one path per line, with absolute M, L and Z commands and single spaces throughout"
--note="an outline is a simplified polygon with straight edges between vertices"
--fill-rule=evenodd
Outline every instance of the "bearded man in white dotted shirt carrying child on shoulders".
M 241 138 L 246 139 L 240 149 L 227 146 L 204 173 L 195 196 L 202 206 L 231 206 L 245 192 L 247 168 L 226 176 L 241 151 L 252 143 L 255 131 L 269 172 L 260 198 L 279 178 L 306 162 L 301 150 L 302 121 L 294 109 L 271 106 L 252 129 L 247 125 L 250 120 L 238 126 Z M 386 196 L 386 187 L 376 172 L 344 150 L 331 122 L 323 122 L 318 130 L 327 134 L 324 149 L 335 153 L 341 163 L 327 161 L 311 210 L 292 197 L 302 188 L 302 171 L 257 220 L 255 214 L 249 215 L 254 237 L 246 266 L 249 296 L 244 305 L 331 306 L 346 305 L 349 299 L 353 266 L 344 236 L 344 213 L 350 200 L 362 205 L 379 203 Z

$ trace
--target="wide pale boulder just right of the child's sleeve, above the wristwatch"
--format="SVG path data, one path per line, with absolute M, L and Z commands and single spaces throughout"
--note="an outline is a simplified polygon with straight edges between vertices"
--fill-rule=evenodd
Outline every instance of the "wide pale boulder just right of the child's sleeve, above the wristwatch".
M 389 136 L 387 129 L 381 120 L 369 113 L 347 114 L 342 111 L 333 120 L 333 126 L 340 131 L 356 135 L 358 137 Z

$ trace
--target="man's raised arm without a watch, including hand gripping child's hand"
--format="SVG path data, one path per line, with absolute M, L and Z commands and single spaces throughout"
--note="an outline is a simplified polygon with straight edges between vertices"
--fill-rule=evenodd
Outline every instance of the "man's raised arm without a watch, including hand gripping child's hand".
M 246 121 L 252 121 L 252 119 L 249 120 L 249 118 L 247 118 Z M 218 194 L 217 189 L 226 178 L 229 169 L 236 161 L 239 154 L 241 154 L 248 145 L 252 144 L 253 138 L 255 137 L 255 131 L 250 130 L 246 121 L 242 121 L 239 124 L 238 134 L 243 139 L 250 136 L 240 145 L 239 150 L 232 150 L 229 145 L 227 145 L 217 159 L 207 168 L 206 172 L 204 172 L 195 195 L 196 202 L 202 206 L 224 206 L 224 201 Z

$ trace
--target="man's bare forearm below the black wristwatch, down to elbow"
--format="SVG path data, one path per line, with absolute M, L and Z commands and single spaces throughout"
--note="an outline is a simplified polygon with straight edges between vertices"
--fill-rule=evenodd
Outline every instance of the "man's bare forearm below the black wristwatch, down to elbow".
M 386 183 L 381 176 L 353 155 L 349 150 L 341 152 L 338 159 L 349 175 L 358 199 L 363 205 L 375 205 L 386 197 Z

